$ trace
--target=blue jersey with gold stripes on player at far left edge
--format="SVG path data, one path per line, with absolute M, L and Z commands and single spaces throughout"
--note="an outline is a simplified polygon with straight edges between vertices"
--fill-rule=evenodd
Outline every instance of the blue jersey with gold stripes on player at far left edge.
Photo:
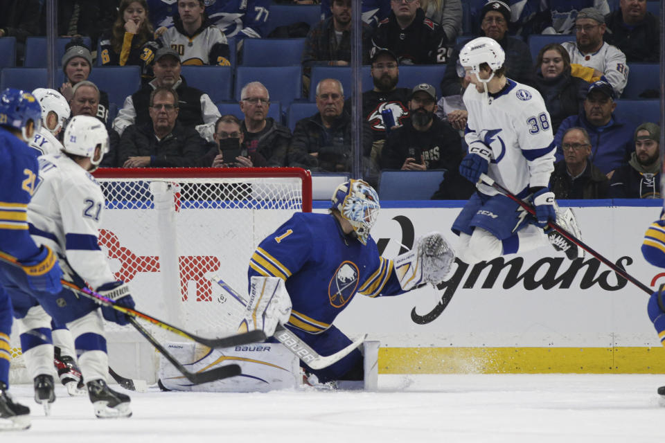
M 26 260 L 39 253 L 28 233 L 28 203 L 39 180 L 37 157 L 0 127 L 0 253 Z

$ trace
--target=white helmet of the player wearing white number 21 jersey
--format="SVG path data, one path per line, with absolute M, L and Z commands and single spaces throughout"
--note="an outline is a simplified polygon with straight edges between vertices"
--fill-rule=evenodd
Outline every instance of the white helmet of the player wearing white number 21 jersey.
M 104 123 L 96 117 L 74 116 L 64 129 L 62 144 L 64 152 L 88 157 L 96 169 L 104 154 L 109 152 L 109 134 Z M 95 159 L 95 148 L 98 145 L 101 147 L 100 156 Z

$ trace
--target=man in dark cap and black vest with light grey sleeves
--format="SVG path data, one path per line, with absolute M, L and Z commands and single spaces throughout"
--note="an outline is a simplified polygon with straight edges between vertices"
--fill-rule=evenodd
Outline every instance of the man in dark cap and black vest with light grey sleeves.
M 150 94 L 158 87 L 166 87 L 177 91 L 180 107 L 178 123 L 186 127 L 204 125 L 209 128 L 212 140 L 213 125 L 220 118 L 220 111 L 208 94 L 199 89 L 188 87 L 185 79 L 180 76 L 180 57 L 172 48 L 161 48 L 154 55 L 154 80 L 139 89 L 131 96 L 125 98 L 123 109 L 113 120 L 113 129 L 122 136 L 129 125 L 145 125 L 150 123 L 149 102 Z

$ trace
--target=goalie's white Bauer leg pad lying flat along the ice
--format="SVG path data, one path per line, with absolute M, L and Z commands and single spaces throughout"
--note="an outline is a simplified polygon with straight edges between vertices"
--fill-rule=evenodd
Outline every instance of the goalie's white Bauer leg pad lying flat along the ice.
M 267 392 L 296 388 L 301 384 L 300 361 L 281 343 L 253 343 L 211 350 L 198 343 L 166 343 L 166 349 L 191 372 L 240 365 L 242 374 L 193 385 L 163 356 L 159 356 L 159 380 L 169 390 L 197 392 Z

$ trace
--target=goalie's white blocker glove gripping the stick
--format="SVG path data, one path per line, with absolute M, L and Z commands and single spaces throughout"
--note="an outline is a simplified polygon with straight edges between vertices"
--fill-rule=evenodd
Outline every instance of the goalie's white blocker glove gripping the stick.
M 276 277 L 255 276 L 249 280 L 249 300 L 245 305 L 245 319 L 238 332 L 261 329 L 272 336 L 278 323 L 287 323 L 291 316 L 291 298 L 284 280 Z

